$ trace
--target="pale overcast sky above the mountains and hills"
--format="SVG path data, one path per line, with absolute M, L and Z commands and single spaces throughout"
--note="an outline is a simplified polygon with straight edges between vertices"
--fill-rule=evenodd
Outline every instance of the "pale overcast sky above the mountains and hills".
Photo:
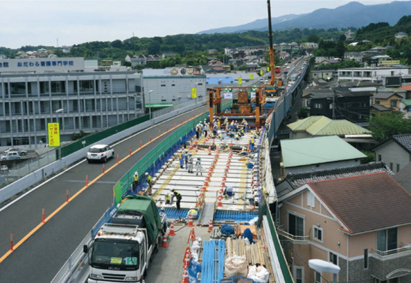
M 272 0 L 271 16 L 333 9 L 349 2 Z M 357 2 L 375 5 L 392 1 Z M 268 16 L 266 0 L 0 0 L 0 7 L 0 47 L 14 49 L 197 33 Z

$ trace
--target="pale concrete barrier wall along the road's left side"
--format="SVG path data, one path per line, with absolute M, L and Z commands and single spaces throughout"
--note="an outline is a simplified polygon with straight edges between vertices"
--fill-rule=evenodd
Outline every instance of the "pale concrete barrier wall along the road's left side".
M 136 125 L 132 128 L 124 130 L 120 133 L 104 138 L 95 144 L 106 144 L 106 145 L 114 144 L 116 143 L 116 141 L 119 141 L 129 135 L 132 135 L 143 129 L 151 127 L 166 119 L 170 119 L 171 117 L 177 116 L 181 113 L 185 113 L 187 111 L 193 110 L 204 104 L 205 104 L 204 102 L 195 103 L 195 104 L 186 106 L 184 108 L 175 110 L 173 112 L 167 113 L 165 115 L 161 115 L 159 117 L 152 119 L 151 121 L 145 121 L 139 125 Z M 81 160 L 82 158 L 84 158 L 84 156 L 86 156 L 88 148 L 89 146 L 79 151 L 76 151 L 68 156 L 65 156 L 61 160 L 50 163 L 44 166 L 43 168 L 36 170 L 32 173 L 29 173 L 25 175 L 24 177 L 14 181 L 13 183 L 1 188 L 0 189 L 0 203 L 12 198 L 15 194 L 22 192 L 23 190 L 35 185 L 36 183 L 39 183 L 47 179 L 53 173 L 59 172 L 60 170 L 67 168 L 70 164 L 73 164 L 74 162 Z

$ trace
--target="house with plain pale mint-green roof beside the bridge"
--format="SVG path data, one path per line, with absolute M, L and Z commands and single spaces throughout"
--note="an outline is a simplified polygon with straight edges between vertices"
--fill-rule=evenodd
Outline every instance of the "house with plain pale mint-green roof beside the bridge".
M 338 136 L 282 139 L 280 170 L 287 173 L 306 172 L 358 165 L 366 157 Z

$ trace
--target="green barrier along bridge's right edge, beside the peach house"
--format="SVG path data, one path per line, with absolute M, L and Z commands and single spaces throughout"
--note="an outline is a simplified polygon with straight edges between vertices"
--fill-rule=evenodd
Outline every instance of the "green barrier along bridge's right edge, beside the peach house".
M 267 216 L 267 222 L 268 222 L 268 225 L 270 226 L 271 237 L 272 237 L 273 242 L 274 242 L 275 252 L 277 254 L 277 258 L 278 258 L 278 261 L 279 261 L 279 265 L 281 267 L 281 271 L 282 271 L 283 276 L 284 276 L 284 280 L 285 280 L 286 283 L 294 283 L 294 280 L 291 276 L 290 269 L 288 268 L 288 264 L 287 264 L 285 255 L 283 253 L 283 248 L 281 247 L 281 244 L 279 243 L 279 240 L 278 240 L 277 231 L 275 229 L 274 221 L 273 221 L 273 218 L 271 216 L 271 212 L 270 212 L 270 209 L 268 207 L 266 198 L 263 197 L 262 200 L 263 201 L 261 202 L 261 204 L 259 206 L 259 209 L 258 209 L 258 223 L 257 223 L 257 226 L 258 227 L 261 226 L 261 224 L 263 222 L 263 215 Z M 268 231 L 264 231 L 264 233 L 268 233 Z

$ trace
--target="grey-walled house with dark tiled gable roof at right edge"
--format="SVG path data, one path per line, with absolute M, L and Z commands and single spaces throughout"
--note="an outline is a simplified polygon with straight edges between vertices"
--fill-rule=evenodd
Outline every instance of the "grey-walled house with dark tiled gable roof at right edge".
M 411 134 L 393 135 L 372 148 L 376 161 L 383 161 L 393 172 L 411 162 Z

